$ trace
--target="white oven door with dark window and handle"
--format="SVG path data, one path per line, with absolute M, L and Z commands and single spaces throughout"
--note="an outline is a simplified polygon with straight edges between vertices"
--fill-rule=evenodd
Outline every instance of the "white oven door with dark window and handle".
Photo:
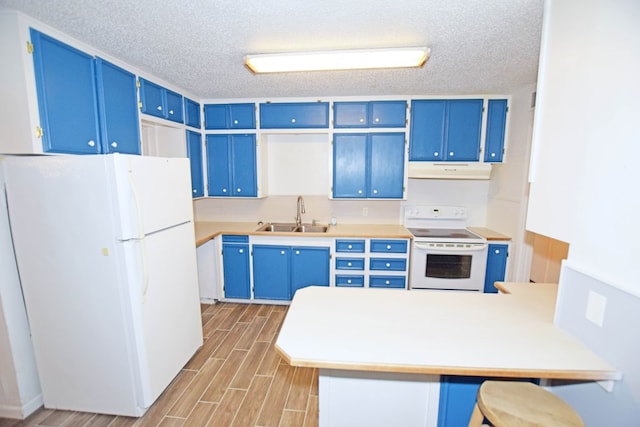
M 482 291 L 486 268 L 485 243 L 414 241 L 411 248 L 409 287 Z

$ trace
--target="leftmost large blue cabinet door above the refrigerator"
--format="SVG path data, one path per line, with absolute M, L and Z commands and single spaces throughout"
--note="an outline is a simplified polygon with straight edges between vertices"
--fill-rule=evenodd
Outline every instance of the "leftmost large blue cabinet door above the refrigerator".
M 93 57 L 33 29 L 31 42 L 43 151 L 100 153 Z

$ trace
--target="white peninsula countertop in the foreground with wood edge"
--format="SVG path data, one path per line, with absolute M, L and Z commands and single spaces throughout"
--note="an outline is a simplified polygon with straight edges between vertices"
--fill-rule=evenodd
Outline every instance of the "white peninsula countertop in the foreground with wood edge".
M 553 325 L 555 285 L 522 286 L 509 287 L 511 294 L 301 289 L 291 303 L 276 349 L 291 365 L 316 368 L 590 380 L 620 377 L 614 367 Z

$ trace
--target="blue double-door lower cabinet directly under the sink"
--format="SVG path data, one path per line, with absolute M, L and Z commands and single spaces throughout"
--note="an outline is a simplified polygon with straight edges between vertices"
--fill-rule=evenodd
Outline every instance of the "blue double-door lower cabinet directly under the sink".
M 253 245 L 253 296 L 290 300 L 307 286 L 329 286 L 329 248 Z

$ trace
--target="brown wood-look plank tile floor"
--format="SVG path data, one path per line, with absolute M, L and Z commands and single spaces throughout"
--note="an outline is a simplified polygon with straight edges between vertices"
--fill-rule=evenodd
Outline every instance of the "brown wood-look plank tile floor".
M 204 345 L 144 417 L 41 408 L 0 427 L 317 426 L 317 369 L 292 367 L 273 348 L 287 308 L 202 305 Z

